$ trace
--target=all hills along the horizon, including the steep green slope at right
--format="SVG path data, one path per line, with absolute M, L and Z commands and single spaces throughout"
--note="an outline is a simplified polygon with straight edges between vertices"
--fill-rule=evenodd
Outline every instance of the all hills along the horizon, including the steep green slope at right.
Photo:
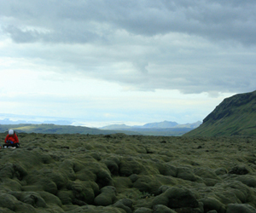
M 0 114 L 1 115 L 1 114 Z M 10 117 L 11 118 L 11 117 Z M 67 120 L 33 122 L 9 118 L 0 120 L 0 131 L 13 128 L 20 132 L 55 134 L 113 134 L 127 135 L 165 135 L 165 136 L 231 136 L 256 135 L 256 90 L 237 94 L 224 99 L 206 118 L 193 124 L 177 124 L 163 121 L 144 125 L 128 126 L 113 124 L 102 128 L 72 126 Z

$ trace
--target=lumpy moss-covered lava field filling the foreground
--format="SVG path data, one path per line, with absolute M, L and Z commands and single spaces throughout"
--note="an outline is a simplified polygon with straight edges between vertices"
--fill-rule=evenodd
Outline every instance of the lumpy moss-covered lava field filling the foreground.
M 256 212 L 254 137 L 18 136 L 0 150 L 3 213 Z

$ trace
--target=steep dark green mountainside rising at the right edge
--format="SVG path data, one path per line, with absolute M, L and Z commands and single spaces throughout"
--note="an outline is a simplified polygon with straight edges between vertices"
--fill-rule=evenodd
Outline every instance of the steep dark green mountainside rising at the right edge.
M 256 135 L 256 91 L 224 99 L 185 136 Z

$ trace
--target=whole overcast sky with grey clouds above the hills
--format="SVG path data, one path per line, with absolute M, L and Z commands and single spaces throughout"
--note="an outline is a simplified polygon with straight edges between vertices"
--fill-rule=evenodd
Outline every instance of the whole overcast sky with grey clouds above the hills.
M 0 113 L 202 121 L 256 89 L 255 11 L 254 0 L 0 0 Z

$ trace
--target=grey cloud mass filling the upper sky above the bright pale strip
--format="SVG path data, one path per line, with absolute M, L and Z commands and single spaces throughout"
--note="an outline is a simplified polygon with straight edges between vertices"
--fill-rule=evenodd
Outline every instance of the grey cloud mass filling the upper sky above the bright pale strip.
M 255 89 L 255 1 L 2 1 L 16 56 L 140 90 Z M 43 45 L 42 45 L 43 44 Z M 67 69 L 68 67 L 68 69 Z

